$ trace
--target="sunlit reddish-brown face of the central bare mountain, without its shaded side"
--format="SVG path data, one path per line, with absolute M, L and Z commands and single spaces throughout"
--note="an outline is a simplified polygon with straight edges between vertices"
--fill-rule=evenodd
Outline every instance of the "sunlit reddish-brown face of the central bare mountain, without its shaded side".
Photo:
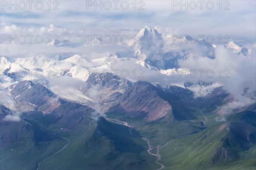
M 161 91 L 152 84 L 138 81 L 128 88 L 113 105 L 117 111 L 129 116 L 145 117 L 148 121 L 172 119 L 172 106 L 161 98 L 159 93 Z

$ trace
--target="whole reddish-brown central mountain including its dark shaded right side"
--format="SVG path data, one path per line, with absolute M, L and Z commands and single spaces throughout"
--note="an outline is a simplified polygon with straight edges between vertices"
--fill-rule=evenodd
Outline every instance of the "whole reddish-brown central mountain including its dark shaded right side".
M 110 111 L 145 118 L 148 121 L 195 119 L 191 112 L 185 111 L 186 109 L 173 108 L 179 102 L 181 99 L 177 95 L 164 92 L 148 82 L 138 81 L 113 102 Z

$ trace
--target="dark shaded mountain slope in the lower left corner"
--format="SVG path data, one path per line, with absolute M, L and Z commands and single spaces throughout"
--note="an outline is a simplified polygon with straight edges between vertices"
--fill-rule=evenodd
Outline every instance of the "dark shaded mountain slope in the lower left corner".
M 36 169 L 38 162 L 58 152 L 67 141 L 47 132 L 31 116 L 43 116 L 41 112 L 24 112 L 20 121 L 10 121 L 6 115 L 15 112 L 0 105 L 0 168 L 5 170 Z

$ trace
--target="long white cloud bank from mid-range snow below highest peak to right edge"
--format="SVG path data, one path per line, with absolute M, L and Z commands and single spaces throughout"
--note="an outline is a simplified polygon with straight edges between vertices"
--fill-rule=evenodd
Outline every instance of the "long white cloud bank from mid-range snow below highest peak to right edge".
M 195 78 L 190 76 L 186 77 L 185 75 L 180 77 L 180 74 L 172 77 L 172 75 L 162 74 L 158 71 L 143 67 L 135 63 L 133 59 L 127 60 L 122 58 L 117 58 L 111 61 L 111 63 L 100 67 L 100 69 L 103 69 L 103 72 L 104 69 L 118 69 L 116 72 L 118 76 L 128 78 L 130 81 L 134 82 L 148 81 L 163 85 L 183 84 L 184 82 L 198 83 L 199 81 L 207 83 L 217 82 L 235 99 L 235 101 L 230 103 L 230 108 L 235 109 L 253 104 L 256 99 L 256 44 L 248 44 L 246 47 L 249 49 L 247 56 L 242 54 L 237 55 L 230 49 L 219 45 L 215 49 L 215 58 L 213 59 L 204 57 L 202 50 L 195 49 L 195 53 L 187 55 L 186 60 L 178 60 L 178 64 L 181 68 L 184 68 L 182 72 L 186 69 L 203 69 L 202 77 L 199 71 Z M 174 46 L 174 48 L 176 48 L 176 46 Z M 122 70 L 124 71 L 122 72 L 123 74 L 121 73 Z M 134 75 L 134 70 L 136 70 L 136 75 Z M 141 71 L 139 72 L 139 70 Z M 209 72 L 207 74 L 207 70 L 212 70 L 214 75 L 211 77 Z M 97 72 L 99 71 L 100 70 L 97 70 Z M 127 72 L 128 76 L 126 77 Z M 114 72 L 112 71 L 112 73 Z M 142 75 L 140 76 L 140 74 Z

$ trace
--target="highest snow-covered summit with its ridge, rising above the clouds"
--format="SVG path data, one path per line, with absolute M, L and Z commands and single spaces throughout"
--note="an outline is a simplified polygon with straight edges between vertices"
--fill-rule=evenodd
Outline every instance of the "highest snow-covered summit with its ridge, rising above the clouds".
M 214 58 L 214 48 L 206 40 L 196 40 L 192 37 L 183 38 L 175 35 L 160 34 L 156 29 L 145 26 L 136 35 L 136 42 L 131 46 L 133 58 L 160 69 L 179 68 L 178 59 L 186 55 L 201 55 Z M 126 57 L 120 55 L 120 57 Z

